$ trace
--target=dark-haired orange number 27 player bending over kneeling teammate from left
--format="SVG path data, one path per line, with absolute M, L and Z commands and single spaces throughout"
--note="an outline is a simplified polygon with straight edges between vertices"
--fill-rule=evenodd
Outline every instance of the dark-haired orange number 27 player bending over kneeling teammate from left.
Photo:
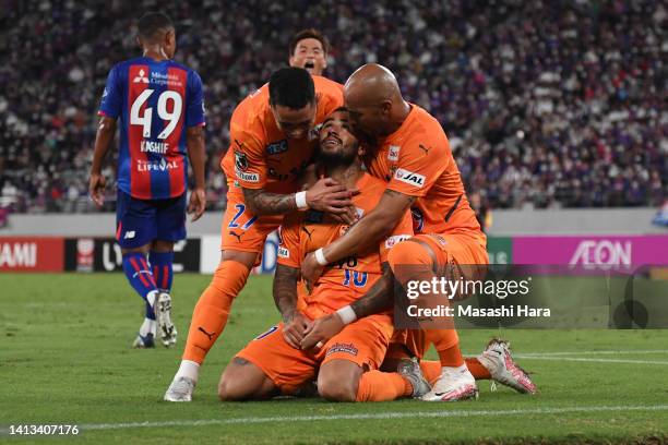
M 312 208 L 351 220 L 351 191 L 331 178 L 300 191 L 318 144 L 314 127 L 343 103 L 342 86 L 300 68 L 284 68 L 242 100 L 230 121 L 231 146 L 222 167 L 228 181 L 222 256 L 192 315 L 181 365 L 165 394 L 190 401 L 199 368 L 227 323 L 266 236 L 283 215 Z

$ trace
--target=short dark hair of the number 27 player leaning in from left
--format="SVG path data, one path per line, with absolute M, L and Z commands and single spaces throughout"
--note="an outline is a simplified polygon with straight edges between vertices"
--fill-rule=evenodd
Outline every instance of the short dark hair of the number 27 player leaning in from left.
M 282 68 L 270 77 L 270 105 L 281 105 L 294 110 L 315 101 L 315 85 L 303 68 Z

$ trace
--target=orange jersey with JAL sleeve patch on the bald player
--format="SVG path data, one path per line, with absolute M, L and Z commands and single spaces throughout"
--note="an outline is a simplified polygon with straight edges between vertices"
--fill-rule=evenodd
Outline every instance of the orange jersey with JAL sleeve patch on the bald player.
M 468 231 L 485 234 L 468 204 L 460 169 L 441 124 L 417 105 L 406 120 L 366 159 L 367 170 L 387 181 L 387 189 L 417 196 L 416 233 Z

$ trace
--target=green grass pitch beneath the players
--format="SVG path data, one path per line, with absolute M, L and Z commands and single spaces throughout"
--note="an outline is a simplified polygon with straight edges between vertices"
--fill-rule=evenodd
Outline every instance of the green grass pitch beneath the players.
M 218 401 L 225 364 L 273 325 L 271 277 L 253 276 L 210 353 L 191 404 L 162 401 L 210 276 L 175 278 L 175 349 L 133 350 L 142 302 L 120 274 L 0 274 L 0 442 L 10 425 L 76 424 L 61 443 L 665 443 L 666 330 L 461 330 L 466 353 L 512 341 L 540 393 L 477 401 Z M 618 351 L 618 352 L 615 352 Z

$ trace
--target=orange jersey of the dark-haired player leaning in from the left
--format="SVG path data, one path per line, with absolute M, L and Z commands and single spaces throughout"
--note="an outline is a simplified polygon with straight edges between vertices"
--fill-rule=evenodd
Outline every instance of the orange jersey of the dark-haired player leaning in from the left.
M 343 106 L 343 86 L 314 75 L 318 110 L 314 124 Z M 220 166 L 228 187 L 264 189 L 272 193 L 293 193 L 298 177 L 311 160 L 318 145 L 317 132 L 303 140 L 288 140 L 278 129 L 269 103 L 269 84 L 243 99 L 232 113 L 230 147 Z

